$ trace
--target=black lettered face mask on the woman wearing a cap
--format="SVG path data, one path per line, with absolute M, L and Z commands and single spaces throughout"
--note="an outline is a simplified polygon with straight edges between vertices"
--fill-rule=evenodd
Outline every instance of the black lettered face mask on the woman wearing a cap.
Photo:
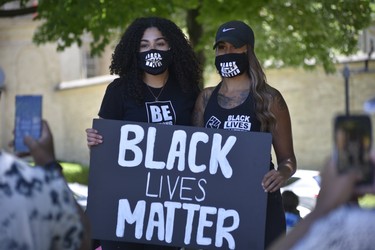
M 215 58 L 215 66 L 222 77 L 231 78 L 243 74 L 249 68 L 246 53 L 230 53 Z

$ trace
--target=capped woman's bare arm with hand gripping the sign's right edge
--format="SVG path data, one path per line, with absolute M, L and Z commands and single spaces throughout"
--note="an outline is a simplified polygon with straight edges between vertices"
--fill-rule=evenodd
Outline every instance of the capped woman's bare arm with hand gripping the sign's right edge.
M 277 90 L 274 91 L 271 111 L 276 118 L 276 127 L 272 132 L 272 145 L 278 167 L 277 170 L 268 172 L 263 178 L 262 185 L 266 192 L 277 191 L 297 169 L 288 106 Z

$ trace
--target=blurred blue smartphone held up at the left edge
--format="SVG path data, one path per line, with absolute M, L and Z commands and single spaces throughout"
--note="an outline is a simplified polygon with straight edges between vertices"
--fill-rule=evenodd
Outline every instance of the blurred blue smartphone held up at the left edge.
M 14 150 L 17 153 L 28 153 L 24 137 L 39 139 L 42 132 L 42 96 L 17 95 L 14 126 Z

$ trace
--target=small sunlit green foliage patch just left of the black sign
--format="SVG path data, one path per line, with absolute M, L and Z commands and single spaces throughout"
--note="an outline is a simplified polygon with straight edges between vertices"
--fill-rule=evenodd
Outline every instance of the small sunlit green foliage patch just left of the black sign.
M 60 162 L 63 174 L 67 182 L 88 185 L 89 168 L 76 163 Z

